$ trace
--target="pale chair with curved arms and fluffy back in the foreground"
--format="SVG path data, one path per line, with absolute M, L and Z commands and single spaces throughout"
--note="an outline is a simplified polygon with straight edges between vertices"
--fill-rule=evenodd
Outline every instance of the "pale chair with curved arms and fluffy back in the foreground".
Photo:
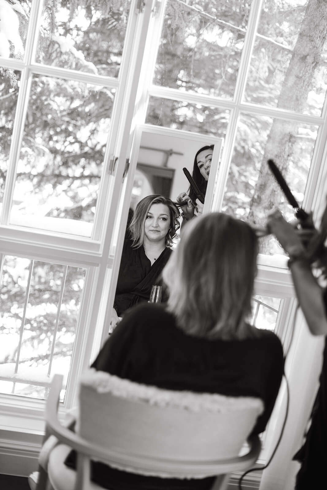
M 121 380 L 108 373 L 92 371 L 94 370 L 88 371 L 86 382 L 83 382 L 82 377 L 80 384 L 77 433 L 63 426 L 58 420 L 57 409 L 62 389 L 61 375 L 54 375 L 52 379 L 46 406 L 45 439 L 49 441 L 50 435 L 55 436 L 56 439 L 52 438 L 52 441 L 66 444 L 77 452 L 75 490 L 101 489 L 90 482 L 91 459 L 145 475 L 170 478 L 217 476 L 213 486 L 214 490 L 225 490 L 232 471 L 246 471 L 257 460 L 261 449 L 257 436 L 248 439 L 249 451 L 247 454 L 239 456 L 239 451 L 263 409 L 261 400 L 160 390 Z M 99 376 L 107 377 L 109 385 L 113 383 L 116 388 L 110 388 L 109 392 L 106 392 L 103 391 L 102 386 L 99 392 L 97 382 L 94 381 L 94 377 L 99 378 Z M 126 387 L 127 394 L 124 392 Z M 133 394 L 130 396 L 130 389 L 132 393 L 136 390 L 135 396 Z M 140 399 L 138 391 L 141 391 L 143 399 Z M 151 399 L 149 399 L 149 393 Z M 146 401 L 144 395 L 145 398 L 148 397 Z M 173 404 L 170 396 L 173 397 Z M 193 404 L 190 408 L 187 406 L 190 400 L 191 405 L 194 400 L 198 405 Z M 221 407 L 217 409 L 217 401 L 218 405 L 222 402 L 222 409 Z M 163 406 L 165 404 L 166 406 Z M 186 406 L 181 407 L 180 404 Z M 218 427 L 217 437 L 224 433 L 223 448 L 220 442 L 216 441 L 216 426 Z M 204 439 L 201 438 L 201 431 Z M 168 432 L 171 434 L 167 434 Z M 175 442 L 172 440 L 174 437 Z M 236 445 L 232 441 L 230 449 L 228 445 L 232 439 L 237 441 Z M 48 452 L 48 458 L 51 457 L 51 449 L 55 444 L 52 442 L 50 444 L 52 447 L 49 449 L 46 447 L 47 441 L 44 447 L 46 453 Z M 157 443 L 158 441 L 160 444 Z M 194 447 L 192 447 L 193 442 Z M 205 447 L 202 451 L 203 446 Z M 231 454 L 230 451 L 234 454 Z M 229 452 L 227 457 L 224 457 L 225 452 Z M 198 455 L 199 460 L 197 461 Z M 40 474 L 37 490 L 52 488 L 57 490 L 49 484 L 49 480 L 50 482 L 52 480 L 51 471 L 47 473 L 48 468 L 44 462 L 42 450 L 39 462 Z

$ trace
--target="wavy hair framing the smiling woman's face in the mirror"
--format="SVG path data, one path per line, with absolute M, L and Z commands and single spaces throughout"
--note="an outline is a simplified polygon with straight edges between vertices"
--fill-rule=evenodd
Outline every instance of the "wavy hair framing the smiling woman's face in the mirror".
M 144 223 L 152 204 L 165 204 L 169 208 L 170 226 L 166 235 L 166 246 L 172 247 L 174 238 L 178 237 L 177 230 L 180 228 L 180 223 L 178 221 L 179 211 L 176 205 L 168 197 L 151 194 L 151 196 L 146 196 L 141 199 L 136 205 L 134 216 L 129 225 L 131 240 L 133 240 L 132 246 L 134 248 L 139 248 L 143 245 Z

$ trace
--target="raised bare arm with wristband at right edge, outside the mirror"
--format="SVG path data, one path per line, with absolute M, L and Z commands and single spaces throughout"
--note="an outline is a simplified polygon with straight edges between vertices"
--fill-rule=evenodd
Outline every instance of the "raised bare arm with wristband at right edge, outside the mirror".
M 300 234 L 290 223 L 284 220 L 279 211 L 268 217 L 267 226 L 276 235 L 284 250 L 293 259 L 289 263 L 295 291 L 302 308 L 304 318 L 313 335 L 327 335 L 327 317 L 324 302 L 324 290 L 312 274 L 306 260 L 306 251 Z

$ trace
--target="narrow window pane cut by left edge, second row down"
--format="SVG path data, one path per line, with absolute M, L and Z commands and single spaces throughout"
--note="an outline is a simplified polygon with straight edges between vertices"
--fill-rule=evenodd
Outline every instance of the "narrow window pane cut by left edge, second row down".
M 0 211 L 21 73 L 0 67 Z

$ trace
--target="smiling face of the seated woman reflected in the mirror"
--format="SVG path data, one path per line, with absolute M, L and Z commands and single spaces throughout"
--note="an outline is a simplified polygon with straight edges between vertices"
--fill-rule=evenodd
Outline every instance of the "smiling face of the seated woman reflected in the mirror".
M 152 204 L 144 222 L 144 234 L 150 242 L 166 238 L 170 227 L 170 212 L 166 204 Z

